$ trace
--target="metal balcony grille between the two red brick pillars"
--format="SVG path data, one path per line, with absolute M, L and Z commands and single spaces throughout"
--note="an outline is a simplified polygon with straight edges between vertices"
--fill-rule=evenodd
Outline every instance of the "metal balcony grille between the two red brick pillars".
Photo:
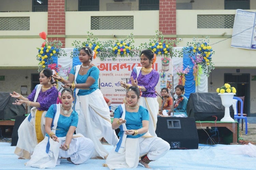
M 91 30 L 133 30 L 133 16 L 91 16 Z

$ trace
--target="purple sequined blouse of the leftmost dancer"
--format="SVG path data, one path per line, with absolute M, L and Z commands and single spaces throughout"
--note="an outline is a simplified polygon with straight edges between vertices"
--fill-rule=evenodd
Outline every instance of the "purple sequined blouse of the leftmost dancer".
M 34 90 L 28 96 L 29 101 L 32 101 L 32 102 L 34 101 L 36 89 L 37 89 L 37 86 L 35 86 Z M 38 107 L 37 109 L 39 111 L 47 111 L 52 104 L 56 104 L 57 98 L 58 98 L 58 90 L 54 86 L 44 92 L 40 90 L 37 98 L 37 102 L 40 103 L 40 107 Z

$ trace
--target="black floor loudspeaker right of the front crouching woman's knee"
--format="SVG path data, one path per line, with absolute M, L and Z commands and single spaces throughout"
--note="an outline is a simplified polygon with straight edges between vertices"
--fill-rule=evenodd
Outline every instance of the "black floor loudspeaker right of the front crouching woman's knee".
M 198 149 L 196 121 L 193 117 L 157 117 L 156 135 L 171 149 Z

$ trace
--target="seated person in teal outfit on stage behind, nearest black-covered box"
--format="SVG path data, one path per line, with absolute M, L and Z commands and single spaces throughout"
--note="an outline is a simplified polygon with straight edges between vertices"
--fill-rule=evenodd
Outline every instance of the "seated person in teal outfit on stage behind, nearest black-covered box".
M 187 101 L 188 99 L 183 95 L 184 86 L 177 85 L 175 87 L 175 93 L 178 96 L 173 106 L 173 117 L 187 117 Z M 171 111 L 168 112 L 170 115 Z

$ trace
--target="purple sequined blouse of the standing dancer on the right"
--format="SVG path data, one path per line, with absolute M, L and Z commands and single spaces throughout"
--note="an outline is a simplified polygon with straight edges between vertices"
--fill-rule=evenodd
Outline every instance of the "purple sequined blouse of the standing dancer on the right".
M 131 72 L 131 77 L 135 80 L 137 78 L 137 73 L 134 71 L 135 68 Z M 142 91 L 141 97 L 156 97 L 155 87 L 159 81 L 159 73 L 156 70 L 152 70 L 150 73 L 146 75 L 142 75 L 141 71 L 137 78 L 138 85 L 146 88 L 146 91 Z M 131 80 L 129 81 L 131 84 Z

